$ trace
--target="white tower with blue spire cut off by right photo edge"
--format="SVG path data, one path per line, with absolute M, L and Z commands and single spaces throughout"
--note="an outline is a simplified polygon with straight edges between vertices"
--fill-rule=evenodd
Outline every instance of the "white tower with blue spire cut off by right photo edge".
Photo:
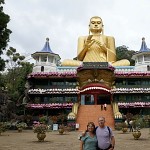
M 150 71 L 150 49 L 147 48 L 145 38 L 142 38 L 141 49 L 132 56 L 135 60 L 135 70 Z

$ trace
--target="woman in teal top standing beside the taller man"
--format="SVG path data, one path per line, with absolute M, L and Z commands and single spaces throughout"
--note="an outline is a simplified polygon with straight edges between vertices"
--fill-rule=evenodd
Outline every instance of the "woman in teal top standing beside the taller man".
M 97 150 L 97 138 L 95 134 L 95 125 L 89 122 L 85 135 L 81 137 L 80 150 Z

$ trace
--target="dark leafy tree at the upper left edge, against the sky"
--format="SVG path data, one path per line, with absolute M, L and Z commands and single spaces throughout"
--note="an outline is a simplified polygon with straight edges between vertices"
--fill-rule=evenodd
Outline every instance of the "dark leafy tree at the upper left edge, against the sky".
M 9 42 L 9 35 L 11 34 L 11 30 L 7 29 L 10 17 L 3 12 L 3 4 L 5 4 L 4 0 L 0 0 L 0 71 L 4 70 L 5 67 L 5 61 L 1 55 Z

